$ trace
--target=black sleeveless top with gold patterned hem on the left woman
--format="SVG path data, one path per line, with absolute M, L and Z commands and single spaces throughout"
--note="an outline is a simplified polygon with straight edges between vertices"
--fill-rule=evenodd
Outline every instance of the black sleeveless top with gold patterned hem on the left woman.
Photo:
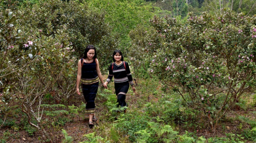
M 99 77 L 96 71 L 96 59 L 93 60 L 91 63 L 83 62 L 84 59 L 81 59 L 82 65 L 82 76 L 81 82 L 84 85 L 90 85 L 96 82 L 99 82 Z

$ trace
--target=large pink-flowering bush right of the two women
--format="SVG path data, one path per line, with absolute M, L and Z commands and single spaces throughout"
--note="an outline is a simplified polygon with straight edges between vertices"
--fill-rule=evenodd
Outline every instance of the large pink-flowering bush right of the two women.
M 130 33 L 132 48 L 141 48 L 137 54 L 151 61 L 149 72 L 203 111 L 214 130 L 228 107 L 255 87 L 255 17 L 225 12 L 189 14 L 186 23 L 156 16 L 150 22 L 149 31 Z

